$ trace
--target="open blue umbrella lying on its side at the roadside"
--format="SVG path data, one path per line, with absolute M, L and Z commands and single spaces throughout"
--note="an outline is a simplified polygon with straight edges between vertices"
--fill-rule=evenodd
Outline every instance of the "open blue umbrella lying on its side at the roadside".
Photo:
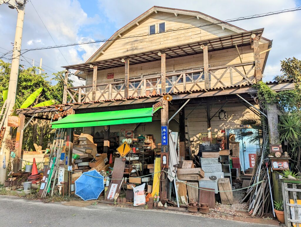
M 75 194 L 85 201 L 98 199 L 102 191 L 104 191 L 104 177 L 96 170 L 83 173 L 75 181 Z

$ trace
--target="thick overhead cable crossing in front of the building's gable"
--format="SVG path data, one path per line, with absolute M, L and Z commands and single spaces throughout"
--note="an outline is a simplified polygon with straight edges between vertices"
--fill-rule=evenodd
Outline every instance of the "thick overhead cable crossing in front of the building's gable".
M 296 7 L 296 8 L 290 8 L 290 9 L 284 9 L 284 10 L 280 10 L 280 11 L 274 11 L 274 12 L 268 12 L 268 13 L 263 13 L 263 14 L 254 14 L 252 16 L 246 16 L 246 17 L 238 17 L 238 18 L 234 18 L 234 19 L 228 19 L 228 20 L 224 20 L 224 21 L 220 21 L 220 22 L 216 22 L 216 23 L 204 23 L 200 26 L 193 26 L 193 27 L 180 27 L 178 29 L 170 29 L 167 30 L 165 32 L 162 33 L 168 33 L 168 32 L 172 32 L 172 31 L 179 31 L 179 30 L 188 30 L 191 28 L 200 28 L 200 27 L 206 27 L 209 25 L 215 25 L 215 24 L 225 24 L 228 22 L 234 22 L 234 21 L 240 21 L 240 20 L 249 20 L 249 19 L 254 19 L 254 18 L 259 18 L 259 17 L 266 17 L 266 16 L 271 16 L 271 15 L 277 15 L 277 14 L 281 14 L 281 13 L 286 13 L 286 12 L 293 12 L 293 11 L 299 11 L 301 10 L 301 6 Z M 137 37 L 143 37 L 143 36 L 148 36 L 148 33 L 141 33 L 140 35 L 132 35 L 132 36 L 124 36 L 124 37 L 118 37 L 118 38 L 112 38 L 112 39 L 102 39 L 102 40 L 94 40 L 94 41 L 88 41 L 88 42 L 81 42 L 81 43 L 70 43 L 70 44 L 63 44 L 63 45 L 56 45 L 56 46 L 47 46 L 47 47 L 39 47 L 39 48 L 32 48 L 32 49 L 24 49 L 23 53 L 21 53 L 20 55 L 23 55 L 24 53 L 28 52 L 28 51 L 32 51 L 32 50 L 43 50 L 43 49 L 53 49 L 53 48 L 60 48 L 60 47 L 68 47 L 68 46 L 77 46 L 77 45 L 83 45 L 83 44 L 91 44 L 91 43 L 101 43 L 101 42 L 107 42 L 107 41 L 113 41 L 113 40 L 119 40 L 119 39 L 129 39 L 129 38 L 137 38 Z M 139 41 L 139 40 L 136 40 Z M 10 51 L 12 52 L 12 51 Z M 3 55 L 0 57 L 2 58 Z

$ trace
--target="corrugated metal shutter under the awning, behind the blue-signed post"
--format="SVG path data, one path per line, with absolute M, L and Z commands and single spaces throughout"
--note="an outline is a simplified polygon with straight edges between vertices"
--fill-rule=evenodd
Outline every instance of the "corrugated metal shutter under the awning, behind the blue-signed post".
M 169 122 L 169 130 L 178 132 L 179 131 L 179 124 L 175 120 L 171 120 Z M 156 143 L 161 143 L 161 121 L 152 121 L 152 122 L 146 122 L 141 123 L 136 128 L 136 135 L 147 135 L 147 134 L 153 134 Z

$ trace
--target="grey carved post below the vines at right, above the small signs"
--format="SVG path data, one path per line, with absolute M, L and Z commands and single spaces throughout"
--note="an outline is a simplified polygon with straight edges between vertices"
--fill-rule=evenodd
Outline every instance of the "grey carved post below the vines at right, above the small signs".
M 267 105 L 267 115 L 270 144 L 278 144 L 280 142 L 280 135 L 278 131 L 278 109 L 276 104 Z

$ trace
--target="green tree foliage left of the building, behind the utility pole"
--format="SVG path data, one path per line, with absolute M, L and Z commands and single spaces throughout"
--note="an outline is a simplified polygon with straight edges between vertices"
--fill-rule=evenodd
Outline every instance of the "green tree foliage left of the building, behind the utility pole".
M 8 86 L 11 64 L 0 59 L 0 92 Z M 18 109 L 24 101 L 38 88 L 43 88 L 42 92 L 36 97 L 31 106 L 35 106 L 40 102 L 55 100 L 55 103 L 62 103 L 64 90 L 64 71 L 57 72 L 50 76 L 45 73 L 37 73 L 38 67 L 24 68 L 19 67 L 19 77 L 17 84 L 17 95 L 15 108 Z M 55 83 L 55 85 L 53 85 Z M 68 80 L 68 85 L 72 87 L 72 80 Z M 0 97 L 0 106 L 3 105 L 3 97 Z M 50 113 L 39 114 L 44 118 L 51 118 Z M 40 150 L 46 148 L 50 139 L 53 137 L 54 131 L 51 129 L 49 121 L 33 119 L 24 132 L 23 148 L 25 150 Z M 25 136 L 26 135 L 26 136 Z

